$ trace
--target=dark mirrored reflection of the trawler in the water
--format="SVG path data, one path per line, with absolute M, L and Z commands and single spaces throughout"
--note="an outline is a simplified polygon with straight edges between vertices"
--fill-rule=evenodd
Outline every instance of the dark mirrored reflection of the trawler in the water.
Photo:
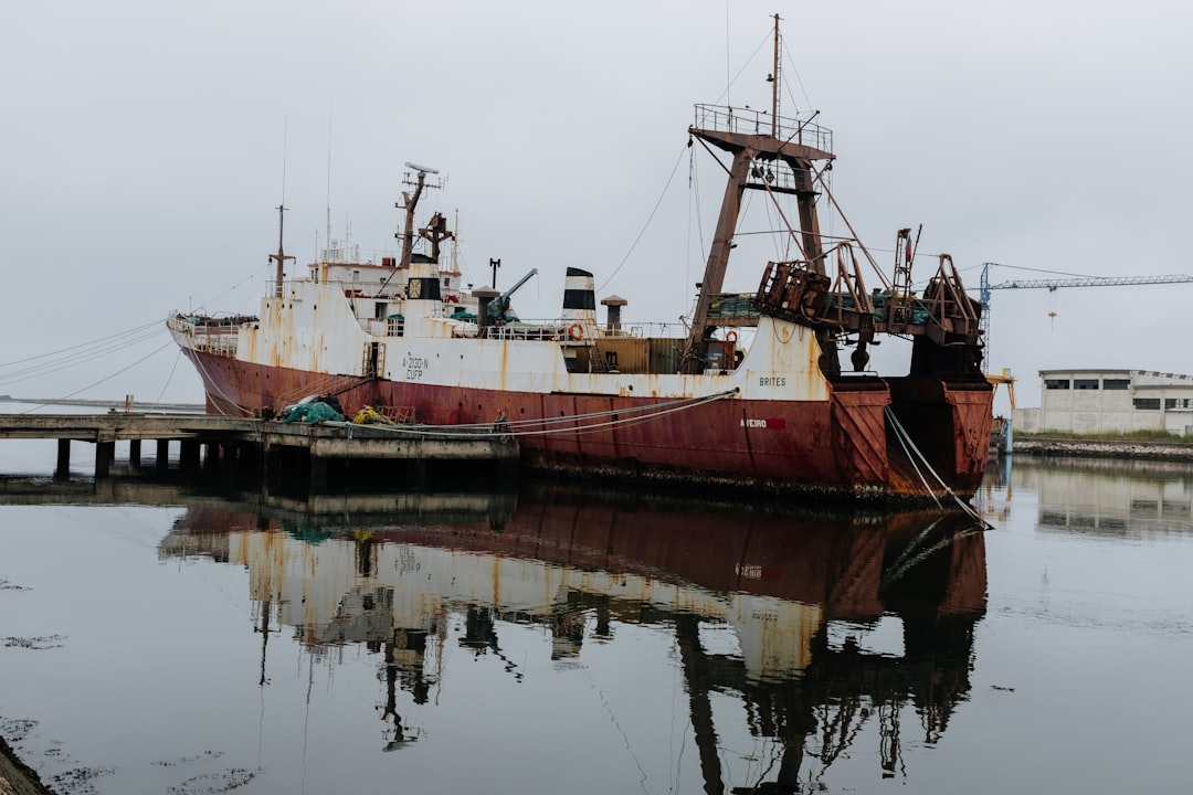
M 643 783 L 648 770 L 680 769 L 644 758 L 686 744 L 706 793 L 796 791 L 853 753 L 873 759 L 871 775 L 905 775 L 904 732 L 935 743 L 970 690 L 985 547 L 962 514 L 693 514 L 556 491 L 426 495 L 404 516 L 357 513 L 379 508 L 369 498 L 339 503 L 330 521 L 192 507 L 159 554 L 247 567 L 261 685 L 279 629 L 315 660 L 367 650 L 381 750 L 469 743 L 449 722 L 458 713 L 437 708 L 452 690 L 472 698 L 478 669 L 468 663 L 487 660 L 501 673 L 483 679 L 471 718 L 486 733 L 518 732 L 519 712 L 546 709 L 582 743 L 582 727 L 618 722 L 617 710 L 612 696 L 575 688 L 670 683 L 679 704 L 661 725 L 679 715 L 687 726 L 669 726 L 659 747 L 620 728 Z M 665 642 L 643 642 L 643 632 Z M 561 673 L 571 690 L 558 689 Z M 872 747 L 851 747 L 863 741 Z M 503 764 L 511 756 L 507 746 Z

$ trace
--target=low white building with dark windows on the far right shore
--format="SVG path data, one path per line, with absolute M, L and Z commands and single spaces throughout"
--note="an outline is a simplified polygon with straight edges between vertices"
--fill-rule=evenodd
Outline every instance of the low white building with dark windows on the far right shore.
M 1016 409 L 1028 433 L 1167 430 L 1193 436 L 1193 375 L 1146 369 L 1041 369 L 1040 408 Z

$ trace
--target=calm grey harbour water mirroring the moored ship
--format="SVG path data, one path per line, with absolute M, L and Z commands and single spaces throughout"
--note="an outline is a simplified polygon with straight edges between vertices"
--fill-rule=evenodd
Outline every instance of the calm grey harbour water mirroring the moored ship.
M 0 441 L 2 472 L 52 464 Z M 0 734 L 62 793 L 1193 780 L 1187 467 L 1020 459 L 988 532 L 42 480 L 0 483 Z

